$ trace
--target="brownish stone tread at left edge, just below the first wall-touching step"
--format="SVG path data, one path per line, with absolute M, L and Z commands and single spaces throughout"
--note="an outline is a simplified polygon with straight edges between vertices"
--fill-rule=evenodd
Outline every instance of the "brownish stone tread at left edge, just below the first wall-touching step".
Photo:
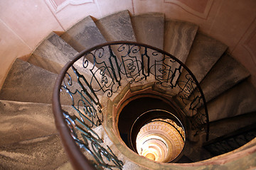
M 0 146 L 57 133 L 52 106 L 0 101 Z

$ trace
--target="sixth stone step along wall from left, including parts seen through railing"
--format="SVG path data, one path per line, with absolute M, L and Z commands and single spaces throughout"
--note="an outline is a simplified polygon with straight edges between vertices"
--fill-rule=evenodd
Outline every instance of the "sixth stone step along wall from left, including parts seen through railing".
M 193 23 L 183 21 L 167 20 L 164 23 L 164 51 L 169 52 L 174 57 L 178 58 L 181 62 L 185 63 L 188 57 L 188 52 L 191 49 L 193 40 L 196 36 L 198 26 Z M 178 94 L 180 89 L 176 86 L 178 77 L 181 76 L 183 67 L 178 62 L 167 57 L 163 61 L 162 66 L 163 77 L 166 80 L 164 86 L 173 86 L 174 91 L 171 95 Z M 164 72 L 166 72 L 164 74 Z

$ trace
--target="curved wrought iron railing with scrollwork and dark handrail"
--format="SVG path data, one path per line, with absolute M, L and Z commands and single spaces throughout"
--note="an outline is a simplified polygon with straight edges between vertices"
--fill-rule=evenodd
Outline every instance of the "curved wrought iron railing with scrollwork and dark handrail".
M 182 74 L 181 74 L 182 72 Z M 176 57 L 137 42 L 107 42 L 84 50 L 60 72 L 53 91 L 55 123 L 76 169 L 122 169 L 122 160 L 97 134 L 102 96 L 112 98 L 127 83 L 153 83 L 180 102 L 192 130 L 206 130 L 208 112 L 196 77 Z

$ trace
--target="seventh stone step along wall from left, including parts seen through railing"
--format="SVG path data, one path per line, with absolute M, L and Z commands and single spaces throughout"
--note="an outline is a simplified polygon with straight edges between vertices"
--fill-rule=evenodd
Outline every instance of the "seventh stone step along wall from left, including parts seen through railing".
M 198 83 L 206 77 L 206 74 L 210 71 L 213 65 L 220 59 L 223 52 L 227 49 L 227 46 L 223 43 L 203 35 L 202 33 L 197 33 L 196 38 L 193 41 L 191 51 L 189 52 L 188 58 L 186 60 L 186 66 L 191 70 L 193 75 L 196 77 Z M 185 96 L 189 96 L 196 89 L 196 82 L 191 83 L 191 76 L 188 74 L 186 69 L 183 69 L 181 77 L 178 79 L 178 86 L 183 89 L 179 90 Z M 183 105 L 181 98 L 176 98 Z M 186 103 L 188 104 L 188 103 Z

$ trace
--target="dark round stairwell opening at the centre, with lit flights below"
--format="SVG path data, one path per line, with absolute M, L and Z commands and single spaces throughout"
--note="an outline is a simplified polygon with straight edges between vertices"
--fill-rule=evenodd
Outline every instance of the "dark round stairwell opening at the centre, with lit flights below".
M 119 113 L 118 130 L 127 147 L 137 154 L 156 162 L 178 162 L 186 142 L 185 120 L 170 102 L 141 97 Z

